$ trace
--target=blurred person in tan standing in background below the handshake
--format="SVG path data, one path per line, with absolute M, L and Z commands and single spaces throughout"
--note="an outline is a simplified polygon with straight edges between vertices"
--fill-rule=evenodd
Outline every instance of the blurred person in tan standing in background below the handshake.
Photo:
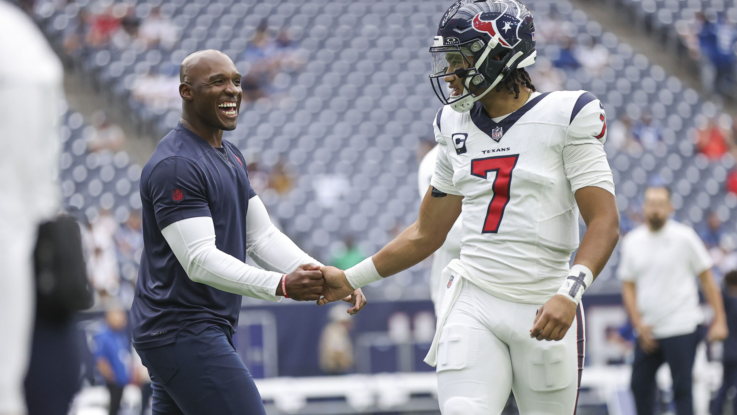
M 349 333 L 351 315 L 340 304 L 328 312 L 330 322 L 320 335 L 320 369 L 326 374 L 344 374 L 353 367 L 353 342 Z

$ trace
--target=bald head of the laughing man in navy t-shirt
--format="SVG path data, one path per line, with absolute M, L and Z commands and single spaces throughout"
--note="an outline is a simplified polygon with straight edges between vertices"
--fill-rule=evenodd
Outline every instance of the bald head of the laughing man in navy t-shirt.
M 243 91 L 241 75 L 223 52 L 206 50 L 189 55 L 182 63 L 179 92 L 203 124 L 234 130 Z

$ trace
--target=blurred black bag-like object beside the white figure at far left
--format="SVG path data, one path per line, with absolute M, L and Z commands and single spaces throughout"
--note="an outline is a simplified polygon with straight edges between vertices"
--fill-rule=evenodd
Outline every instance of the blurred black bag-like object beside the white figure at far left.
M 82 235 L 74 219 L 61 215 L 41 223 L 33 258 L 39 318 L 65 321 L 74 312 L 92 307 Z

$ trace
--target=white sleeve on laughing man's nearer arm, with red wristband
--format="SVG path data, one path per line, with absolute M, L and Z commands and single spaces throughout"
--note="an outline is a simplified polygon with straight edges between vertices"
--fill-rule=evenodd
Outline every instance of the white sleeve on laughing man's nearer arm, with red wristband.
M 276 296 L 276 287 L 283 273 L 246 265 L 217 249 L 212 217 L 179 220 L 161 229 L 161 234 L 192 281 L 256 299 L 281 298 Z

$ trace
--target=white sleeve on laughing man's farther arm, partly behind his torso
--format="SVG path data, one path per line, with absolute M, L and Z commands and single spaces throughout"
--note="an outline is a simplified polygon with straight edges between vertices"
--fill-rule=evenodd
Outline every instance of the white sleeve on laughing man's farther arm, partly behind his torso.
M 322 265 L 302 251 L 271 223 L 266 206 L 258 196 L 248 200 L 245 215 L 245 243 L 248 257 L 269 271 L 290 273 L 302 264 Z

